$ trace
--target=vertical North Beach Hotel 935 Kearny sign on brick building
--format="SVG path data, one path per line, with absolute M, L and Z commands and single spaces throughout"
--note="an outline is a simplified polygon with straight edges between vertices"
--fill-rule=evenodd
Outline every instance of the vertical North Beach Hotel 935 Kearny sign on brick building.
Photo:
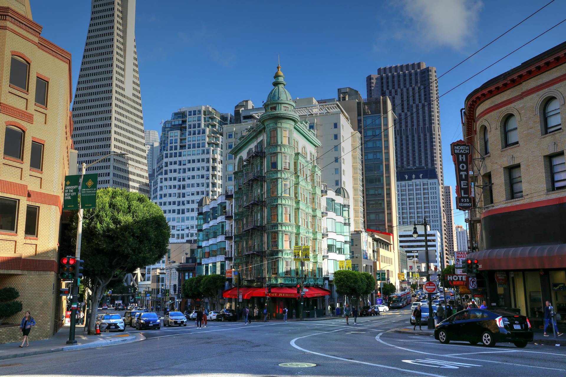
M 453 142 L 450 146 L 452 160 L 456 168 L 456 208 L 467 211 L 473 206 L 470 188 L 471 145 L 463 140 L 458 140 Z

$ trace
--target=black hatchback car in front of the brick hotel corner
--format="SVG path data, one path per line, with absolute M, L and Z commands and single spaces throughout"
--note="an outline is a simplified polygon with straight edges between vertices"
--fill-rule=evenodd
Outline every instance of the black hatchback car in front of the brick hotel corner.
M 512 311 L 468 309 L 440 322 L 434 330 L 434 337 L 443 344 L 464 340 L 492 347 L 504 342 L 522 348 L 533 341 L 533 329 L 529 318 Z

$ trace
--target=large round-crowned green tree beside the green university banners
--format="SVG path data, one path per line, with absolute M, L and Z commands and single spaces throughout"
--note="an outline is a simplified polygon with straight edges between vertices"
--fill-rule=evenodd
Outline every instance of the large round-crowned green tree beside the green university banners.
M 81 246 L 82 282 L 91 291 L 89 334 L 95 333 L 96 308 L 106 287 L 160 261 L 170 236 L 163 211 L 143 194 L 102 188 L 96 192 L 96 206 L 84 210 Z M 71 245 L 76 242 L 77 217 L 68 231 Z

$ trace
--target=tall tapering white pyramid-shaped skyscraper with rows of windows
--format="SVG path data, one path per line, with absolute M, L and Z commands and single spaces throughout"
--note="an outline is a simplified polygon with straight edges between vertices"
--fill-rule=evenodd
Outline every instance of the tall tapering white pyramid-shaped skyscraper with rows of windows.
M 72 106 L 78 163 L 96 163 L 98 187 L 149 196 L 135 39 L 135 0 L 92 0 L 91 21 Z

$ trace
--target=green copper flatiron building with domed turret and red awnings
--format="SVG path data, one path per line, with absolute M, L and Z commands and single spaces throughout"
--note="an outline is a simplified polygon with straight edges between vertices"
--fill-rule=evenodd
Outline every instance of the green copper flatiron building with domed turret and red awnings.
M 263 114 L 230 149 L 234 192 L 226 197 L 227 210 L 233 209 L 235 278 L 223 296 L 235 305 L 267 307 L 272 318 L 282 318 L 285 307 L 298 315 L 304 307 L 314 317 L 315 307 L 322 314 L 329 294 L 322 288 L 320 142 L 294 112 L 280 66 L 273 78 Z M 304 295 L 298 293 L 301 284 L 308 286 Z

